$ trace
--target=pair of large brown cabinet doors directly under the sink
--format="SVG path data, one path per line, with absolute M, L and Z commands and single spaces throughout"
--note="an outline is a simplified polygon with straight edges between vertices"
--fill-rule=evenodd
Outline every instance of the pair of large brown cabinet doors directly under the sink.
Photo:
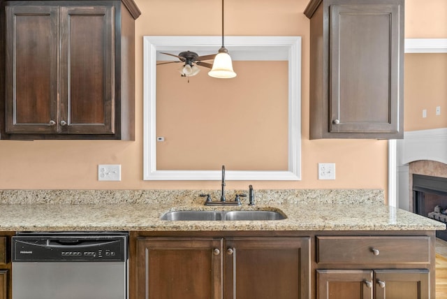
M 138 238 L 136 298 L 301 299 L 310 238 Z

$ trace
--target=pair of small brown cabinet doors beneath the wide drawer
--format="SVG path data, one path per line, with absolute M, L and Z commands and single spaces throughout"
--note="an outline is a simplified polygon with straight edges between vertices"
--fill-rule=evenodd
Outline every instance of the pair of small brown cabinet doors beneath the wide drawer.
M 318 299 L 428 299 L 430 271 L 317 270 Z

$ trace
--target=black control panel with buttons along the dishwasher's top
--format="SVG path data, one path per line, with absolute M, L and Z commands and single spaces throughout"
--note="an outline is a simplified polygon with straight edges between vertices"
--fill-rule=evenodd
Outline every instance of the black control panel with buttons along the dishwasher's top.
M 13 261 L 126 261 L 127 235 L 17 235 Z

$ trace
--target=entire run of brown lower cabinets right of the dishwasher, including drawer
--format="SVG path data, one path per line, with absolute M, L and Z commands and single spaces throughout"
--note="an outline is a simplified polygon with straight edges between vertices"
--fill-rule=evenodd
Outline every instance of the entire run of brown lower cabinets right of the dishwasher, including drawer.
M 434 231 L 131 232 L 129 298 L 432 299 L 435 241 Z

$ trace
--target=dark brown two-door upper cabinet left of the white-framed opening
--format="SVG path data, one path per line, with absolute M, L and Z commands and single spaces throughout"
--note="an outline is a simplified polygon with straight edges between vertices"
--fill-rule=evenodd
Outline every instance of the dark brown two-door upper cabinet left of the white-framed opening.
M 133 1 L 6 1 L 4 13 L 2 138 L 134 140 Z

